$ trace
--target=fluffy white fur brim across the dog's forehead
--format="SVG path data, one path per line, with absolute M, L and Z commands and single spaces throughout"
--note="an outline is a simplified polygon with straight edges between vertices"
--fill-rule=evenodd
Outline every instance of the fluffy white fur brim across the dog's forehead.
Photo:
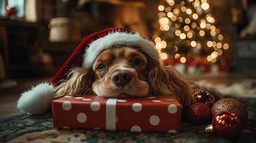
M 109 35 L 99 38 L 90 44 L 85 52 L 82 67 L 85 69 L 91 67 L 98 54 L 100 54 L 103 49 L 110 48 L 113 45 L 138 46 L 151 58 L 159 60 L 158 50 L 152 42 L 142 38 L 138 33 L 116 31 L 110 32 Z

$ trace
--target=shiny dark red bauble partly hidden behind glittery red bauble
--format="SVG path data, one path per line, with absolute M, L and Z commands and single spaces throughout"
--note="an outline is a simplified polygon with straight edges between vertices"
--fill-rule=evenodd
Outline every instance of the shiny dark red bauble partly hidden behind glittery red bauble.
M 192 95 L 195 102 L 202 102 L 208 105 L 209 108 L 212 108 L 212 105 L 215 103 L 215 99 L 212 94 L 207 91 L 198 91 Z

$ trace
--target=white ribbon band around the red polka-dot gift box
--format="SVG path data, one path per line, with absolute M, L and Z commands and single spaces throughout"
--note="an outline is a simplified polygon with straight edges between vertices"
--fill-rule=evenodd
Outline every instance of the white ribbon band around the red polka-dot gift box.
M 117 100 L 117 98 L 109 98 L 106 102 L 106 130 L 116 130 Z

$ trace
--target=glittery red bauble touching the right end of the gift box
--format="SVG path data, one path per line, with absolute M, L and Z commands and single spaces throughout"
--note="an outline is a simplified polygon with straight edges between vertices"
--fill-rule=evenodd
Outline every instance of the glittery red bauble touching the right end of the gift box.
M 193 122 L 205 125 L 211 122 L 211 109 L 201 102 L 194 103 L 187 109 L 187 117 Z

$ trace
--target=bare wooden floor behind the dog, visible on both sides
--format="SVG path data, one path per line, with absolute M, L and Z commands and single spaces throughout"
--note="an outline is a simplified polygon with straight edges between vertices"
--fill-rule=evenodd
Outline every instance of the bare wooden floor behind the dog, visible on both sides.
M 206 81 L 207 83 L 214 85 L 231 85 L 235 82 L 241 82 L 243 80 L 254 79 L 255 75 L 241 75 L 241 74 L 202 74 L 202 75 L 184 75 L 184 79 L 191 82 Z M 33 79 L 17 79 L 17 85 L 12 88 L 0 89 L 0 119 L 19 114 L 20 111 L 16 108 L 16 102 L 20 97 L 20 94 L 31 86 L 35 86 L 40 82 L 50 82 L 51 77 L 41 77 Z

